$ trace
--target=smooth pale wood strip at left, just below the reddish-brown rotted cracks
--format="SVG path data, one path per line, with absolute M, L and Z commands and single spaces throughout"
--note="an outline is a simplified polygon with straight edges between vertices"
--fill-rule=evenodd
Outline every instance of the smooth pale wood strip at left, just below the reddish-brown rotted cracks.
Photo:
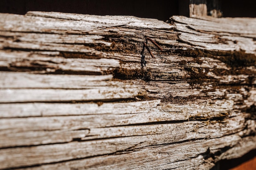
M 113 75 L 40 75 L 31 73 L 0 72 L 1 88 L 59 88 L 90 89 L 109 87 L 132 87 L 119 81 L 109 81 Z M 135 87 L 135 86 L 133 86 Z

